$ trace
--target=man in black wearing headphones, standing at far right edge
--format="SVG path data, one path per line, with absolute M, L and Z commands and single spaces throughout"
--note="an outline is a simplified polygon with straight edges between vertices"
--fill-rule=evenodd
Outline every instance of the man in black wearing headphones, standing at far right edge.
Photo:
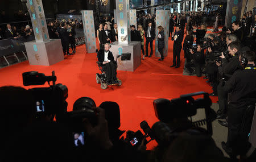
M 256 68 L 255 53 L 252 51 L 242 52 L 239 56 L 243 70 L 237 70 L 226 82 L 224 90 L 230 92 L 228 105 L 228 139 L 222 142 L 222 148 L 230 155 L 245 154 L 246 141 L 241 139 L 241 123 L 247 106 L 256 102 Z M 247 134 L 246 134 L 247 136 Z

